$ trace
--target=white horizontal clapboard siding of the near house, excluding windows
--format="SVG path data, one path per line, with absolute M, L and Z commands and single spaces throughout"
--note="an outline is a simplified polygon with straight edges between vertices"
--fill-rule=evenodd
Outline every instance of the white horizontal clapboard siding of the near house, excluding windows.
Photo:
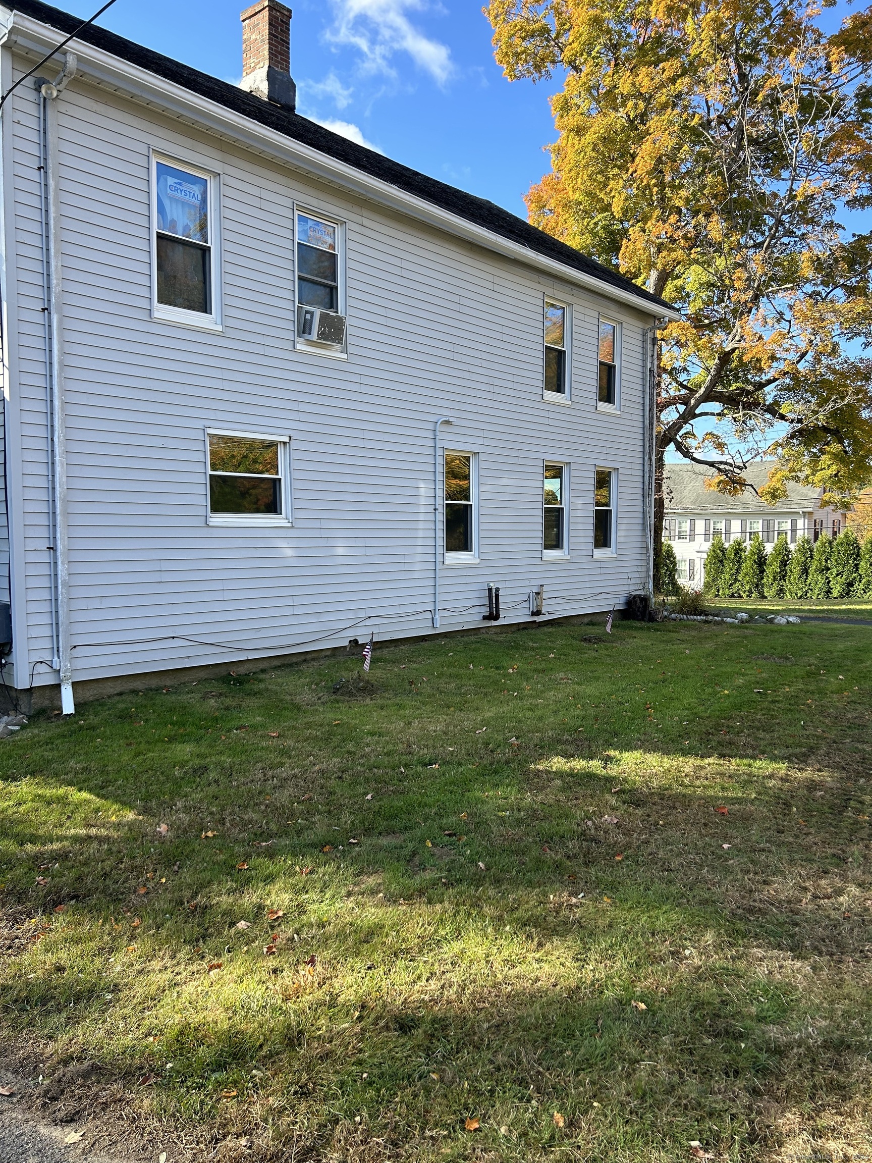
M 50 658 L 37 105 L 13 98 L 28 671 Z M 77 679 L 426 633 L 434 421 L 478 456 L 478 563 L 441 568 L 445 629 L 486 585 L 578 614 L 645 586 L 643 330 L 651 319 L 74 79 L 58 100 Z M 150 150 L 219 177 L 223 331 L 151 317 Z M 8 198 L 8 194 L 7 194 Z M 346 223 L 348 359 L 294 350 L 294 206 Z M 542 398 L 545 297 L 572 311 L 572 404 Z M 596 411 L 600 312 L 622 324 L 622 411 Z M 293 525 L 209 526 L 203 430 L 291 437 Z M 542 557 L 542 466 L 569 465 L 569 545 Z M 619 472 L 594 558 L 594 468 Z M 15 518 L 14 518 L 15 519 Z M 6 552 L 0 541 L 0 557 Z M 1 564 L 1 563 L 0 563 Z M 198 640 L 198 641 L 188 641 Z M 29 676 L 19 685 L 27 685 Z M 36 666 L 34 682 L 56 680 Z

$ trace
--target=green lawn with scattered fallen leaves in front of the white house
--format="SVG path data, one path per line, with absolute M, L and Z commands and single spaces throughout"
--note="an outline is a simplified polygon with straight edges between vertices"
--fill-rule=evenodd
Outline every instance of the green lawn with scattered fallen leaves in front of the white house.
M 0 743 L 7 1047 L 97 1059 L 167 1163 L 871 1157 L 872 628 L 359 669 Z

